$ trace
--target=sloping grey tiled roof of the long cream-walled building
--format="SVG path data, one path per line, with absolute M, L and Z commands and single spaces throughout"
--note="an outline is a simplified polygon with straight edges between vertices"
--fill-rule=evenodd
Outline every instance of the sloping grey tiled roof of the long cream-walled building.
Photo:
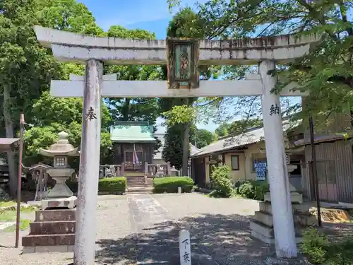
M 287 129 L 290 129 L 294 126 L 298 126 L 300 123 L 301 121 L 289 122 L 288 120 L 285 120 L 283 121 L 283 131 L 287 131 Z M 201 151 L 199 151 L 198 153 L 194 153 L 193 155 L 191 155 L 191 157 L 227 151 L 229 149 L 238 148 L 241 146 L 248 146 L 249 144 L 263 141 L 264 136 L 265 134 L 263 131 L 263 127 L 249 129 L 243 134 L 215 141 L 214 143 L 211 143 L 210 145 L 201 148 Z

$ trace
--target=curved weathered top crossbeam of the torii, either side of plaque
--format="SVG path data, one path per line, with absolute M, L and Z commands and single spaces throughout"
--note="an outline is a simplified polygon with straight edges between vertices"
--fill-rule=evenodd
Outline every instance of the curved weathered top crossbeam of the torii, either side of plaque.
M 37 39 L 51 47 L 59 61 L 83 64 L 97 59 L 104 64 L 167 64 L 166 40 L 122 40 L 95 37 L 35 26 Z M 285 63 L 302 57 L 319 41 L 318 35 L 280 35 L 240 40 L 200 42 L 199 64 L 258 64 L 265 59 Z

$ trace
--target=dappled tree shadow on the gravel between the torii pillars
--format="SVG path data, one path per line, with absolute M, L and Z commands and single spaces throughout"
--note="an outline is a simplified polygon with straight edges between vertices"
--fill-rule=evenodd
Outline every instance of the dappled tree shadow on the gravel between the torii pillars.
M 179 264 L 178 234 L 191 233 L 191 252 L 208 255 L 218 263 L 261 259 L 271 253 L 268 245 L 250 238 L 248 216 L 210 215 L 157 223 L 121 240 L 100 240 L 96 260 L 103 264 L 169 261 Z M 194 257 L 193 257 L 194 259 Z M 209 261 L 209 260 L 208 260 Z M 196 262 L 196 264 L 207 262 Z M 208 264 L 215 264 L 208 262 Z

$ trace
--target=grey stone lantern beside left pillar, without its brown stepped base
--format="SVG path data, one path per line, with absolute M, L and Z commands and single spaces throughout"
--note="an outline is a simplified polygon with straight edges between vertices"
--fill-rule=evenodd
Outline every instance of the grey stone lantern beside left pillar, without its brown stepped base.
M 67 137 L 68 134 L 65 131 L 61 131 L 57 143 L 52 144 L 47 150 L 40 149 L 42 155 L 54 159 L 53 167 L 48 169 L 47 173 L 56 181 L 56 184 L 48 193 L 47 200 L 45 201 L 58 201 L 58 199 L 61 199 L 59 201 L 72 201 L 74 203 L 76 200 L 76 197 L 73 197 L 73 192 L 67 187 L 65 182 L 75 172 L 75 170 L 68 167 L 68 157 L 79 156 L 80 154 L 78 153 L 78 148 L 74 148 L 68 143 Z M 73 208 L 74 205 L 65 206 Z

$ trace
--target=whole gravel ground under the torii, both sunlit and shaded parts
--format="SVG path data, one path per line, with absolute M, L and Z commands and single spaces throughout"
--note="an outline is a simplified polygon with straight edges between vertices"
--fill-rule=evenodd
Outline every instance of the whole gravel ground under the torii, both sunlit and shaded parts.
M 202 194 L 100 196 L 96 264 L 179 264 L 178 232 L 191 232 L 193 264 L 263 264 L 266 245 L 249 237 L 256 201 Z M 23 231 L 27 235 L 28 231 Z M 73 254 L 20 254 L 14 233 L 0 233 L 1 265 L 67 265 Z

